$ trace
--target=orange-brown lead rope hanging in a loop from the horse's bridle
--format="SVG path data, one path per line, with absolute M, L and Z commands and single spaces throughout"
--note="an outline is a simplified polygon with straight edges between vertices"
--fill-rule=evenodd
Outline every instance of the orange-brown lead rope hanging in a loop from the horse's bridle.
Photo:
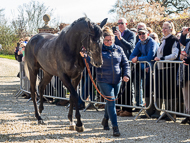
M 94 87 L 95 87 L 96 90 L 98 91 L 98 93 L 99 93 L 104 99 L 106 99 L 106 100 L 108 100 L 108 101 L 116 101 L 116 100 L 118 100 L 118 99 L 119 99 L 119 96 L 117 96 L 116 99 L 111 100 L 111 99 L 108 99 L 108 98 L 112 98 L 112 96 L 105 96 L 105 95 L 103 95 L 103 94 L 99 91 L 99 89 L 97 88 L 97 86 L 96 86 L 96 84 L 95 84 L 95 82 L 94 82 L 94 80 L 93 80 L 93 78 L 92 78 L 92 75 L 91 75 L 91 72 L 90 72 L 90 68 L 89 68 L 89 64 L 88 64 L 88 62 L 86 61 L 86 58 L 84 58 L 84 61 L 85 61 L 85 64 L 86 64 L 86 68 L 87 68 L 89 77 L 90 77 L 90 79 L 91 79 L 91 81 L 92 81 Z M 125 84 L 125 82 L 123 82 L 122 84 Z M 121 87 L 122 87 L 122 86 L 121 86 Z M 124 88 L 124 90 L 125 90 L 125 88 Z M 121 95 L 121 94 L 124 92 L 124 90 L 123 90 L 122 92 L 120 92 L 119 95 Z

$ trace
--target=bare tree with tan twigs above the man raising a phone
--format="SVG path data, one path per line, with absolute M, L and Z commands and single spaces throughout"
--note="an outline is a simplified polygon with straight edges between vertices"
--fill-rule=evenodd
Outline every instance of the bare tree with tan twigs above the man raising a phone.
M 160 20 L 165 9 L 159 3 L 149 4 L 145 0 L 117 0 L 110 13 L 125 17 L 128 21 Z

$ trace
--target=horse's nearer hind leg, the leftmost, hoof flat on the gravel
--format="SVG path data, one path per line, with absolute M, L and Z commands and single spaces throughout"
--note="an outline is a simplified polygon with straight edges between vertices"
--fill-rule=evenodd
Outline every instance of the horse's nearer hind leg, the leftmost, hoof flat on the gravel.
M 36 78 L 37 78 L 37 73 L 38 70 L 36 69 L 35 71 L 31 70 L 30 68 L 28 68 L 29 73 L 30 73 L 30 91 L 31 91 L 31 97 L 32 97 L 32 101 L 34 104 L 34 109 L 35 109 L 35 117 L 38 120 L 38 123 L 43 122 L 42 118 L 40 117 L 39 113 L 38 113 L 38 107 L 37 107 L 37 94 L 36 94 Z

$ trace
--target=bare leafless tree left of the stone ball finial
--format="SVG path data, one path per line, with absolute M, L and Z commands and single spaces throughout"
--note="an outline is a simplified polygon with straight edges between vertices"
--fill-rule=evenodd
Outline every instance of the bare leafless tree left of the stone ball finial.
M 30 1 L 18 7 L 18 17 L 12 24 L 18 34 L 37 32 L 44 25 L 43 15 L 52 15 L 53 9 L 38 1 Z

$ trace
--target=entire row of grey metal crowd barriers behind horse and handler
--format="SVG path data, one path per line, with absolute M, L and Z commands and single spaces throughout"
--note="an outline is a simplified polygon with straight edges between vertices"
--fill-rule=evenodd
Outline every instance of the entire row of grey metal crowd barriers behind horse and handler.
M 180 63 L 182 62 L 159 61 L 155 62 L 154 65 L 152 65 L 149 62 L 139 62 L 137 64 L 130 62 L 131 79 L 128 83 L 125 83 L 125 91 L 116 101 L 116 106 L 122 108 L 140 109 L 135 119 L 137 119 L 142 112 L 144 112 L 145 115 L 149 117 L 145 111 L 149 109 L 153 103 L 158 111 L 163 112 L 157 122 L 165 114 L 169 116 L 173 121 L 175 121 L 175 119 L 169 113 L 190 117 L 190 113 L 186 113 L 185 111 L 186 108 L 189 109 L 190 107 L 189 88 L 187 88 L 188 91 L 186 91 L 188 92 L 186 99 L 188 102 L 187 106 L 185 107 L 183 104 L 183 94 L 181 91 L 182 85 L 177 80 L 177 74 L 179 74 L 179 76 L 183 75 L 183 79 L 186 78 L 185 76 L 189 77 L 189 66 L 187 68 L 188 75 L 185 75 L 182 72 L 178 72 L 178 67 L 181 69 Z M 160 69 L 159 64 L 162 64 L 164 68 Z M 154 69 L 153 71 L 152 68 L 150 68 L 152 66 Z M 183 69 L 185 68 L 184 65 L 182 65 L 182 67 Z M 96 74 L 93 67 L 91 68 L 91 73 L 95 79 Z M 40 70 L 36 84 L 37 92 L 38 83 L 42 77 L 43 73 Z M 154 90 L 152 80 L 154 80 Z M 189 85 L 189 80 L 187 83 L 185 80 L 183 80 L 183 84 Z M 30 94 L 30 83 L 24 74 L 24 65 L 23 63 L 20 63 L 20 89 L 16 96 L 18 97 L 23 93 Z M 89 103 L 89 105 L 106 103 L 106 101 L 95 90 L 86 69 L 84 70 L 83 77 L 80 81 L 79 86 L 77 87 L 77 93 L 80 95 L 81 100 L 83 102 Z M 69 93 L 59 78 L 54 76 L 44 91 L 44 97 L 69 100 Z M 84 111 L 86 111 L 86 109 Z

